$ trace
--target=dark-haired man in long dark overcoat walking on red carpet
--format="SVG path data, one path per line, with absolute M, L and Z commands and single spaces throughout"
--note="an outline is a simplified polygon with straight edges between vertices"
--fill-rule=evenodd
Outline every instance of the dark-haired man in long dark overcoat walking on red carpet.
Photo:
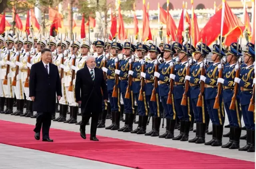
M 52 142 L 49 137 L 52 113 L 55 112 L 56 94 L 60 100 L 61 82 L 58 67 L 50 63 L 52 52 L 50 49 L 43 49 L 41 52 L 42 61 L 31 67 L 29 77 L 29 96 L 33 103 L 33 111 L 37 112 L 36 127 L 34 129 L 36 140 L 40 140 L 42 128 L 42 141 Z

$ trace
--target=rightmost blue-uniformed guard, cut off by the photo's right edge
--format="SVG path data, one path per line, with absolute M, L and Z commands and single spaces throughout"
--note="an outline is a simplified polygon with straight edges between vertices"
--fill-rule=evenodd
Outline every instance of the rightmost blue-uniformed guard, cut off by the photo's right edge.
M 240 87 L 240 105 L 242 108 L 242 115 L 244 119 L 244 124 L 246 127 L 246 145 L 239 148 L 239 151 L 255 152 L 255 123 L 254 123 L 254 113 L 255 109 L 249 108 L 250 104 L 255 104 L 253 100 L 254 86 L 253 81 L 255 80 L 255 51 L 253 45 L 248 46 L 244 51 L 244 63 L 246 67 L 242 68 L 240 71 L 240 76 L 235 77 L 235 83 L 239 84 Z M 251 100 L 252 99 L 252 100 Z

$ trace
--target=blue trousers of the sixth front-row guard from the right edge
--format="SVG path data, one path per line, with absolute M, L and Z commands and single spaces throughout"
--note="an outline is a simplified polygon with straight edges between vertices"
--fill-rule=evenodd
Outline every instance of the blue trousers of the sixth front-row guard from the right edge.
M 173 98 L 173 94 L 172 94 L 172 98 Z M 164 108 L 164 117 L 175 120 L 176 112 L 174 109 L 174 102 L 173 104 L 167 104 L 167 99 L 168 99 L 168 96 L 161 96 L 161 103 Z

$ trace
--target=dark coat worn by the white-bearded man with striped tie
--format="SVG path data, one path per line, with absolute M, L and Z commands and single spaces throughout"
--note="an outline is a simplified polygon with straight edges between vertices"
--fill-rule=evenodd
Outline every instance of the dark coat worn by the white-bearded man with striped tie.
M 92 77 L 87 66 L 76 73 L 76 101 L 82 101 L 81 108 L 84 109 L 84 112 L 82 112 L 83 115 L 91 112 L 102 112 L 101 89 L 103 91 L 103 99 L 108 99 L 108 91 L 103 71 L 101 69 L 94 68 L 94 73 L 94 81 L 92 81 Z

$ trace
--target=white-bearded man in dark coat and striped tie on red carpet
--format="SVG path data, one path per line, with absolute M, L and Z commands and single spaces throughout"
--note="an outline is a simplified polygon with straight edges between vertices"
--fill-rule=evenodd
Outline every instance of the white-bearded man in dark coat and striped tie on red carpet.
M 80 136 L 86 139 L 85 126 L 92 117 L 90 140 L 99 141 L 96 138 L 98 117 L 102 112 L 102 99 L 104 102 L 108 101 L 108 92 L 103 71 L 95 67 L 93 56 L 88 56 L 86 66 L 76 73 L 75 95 L 76 102 L 81 104 L 82 110 Z

